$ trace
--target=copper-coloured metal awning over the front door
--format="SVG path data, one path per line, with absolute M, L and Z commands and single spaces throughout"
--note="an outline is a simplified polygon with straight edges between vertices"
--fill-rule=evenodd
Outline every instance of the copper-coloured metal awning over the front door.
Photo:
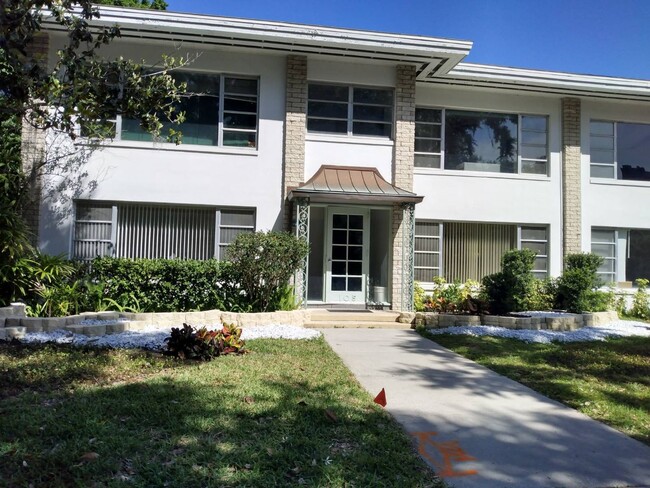
M 420 203 L 424 197 L 391 185 L 376 168 L 321 166 L 307 183 L 291 189 L 289 200 L 322 203 Z

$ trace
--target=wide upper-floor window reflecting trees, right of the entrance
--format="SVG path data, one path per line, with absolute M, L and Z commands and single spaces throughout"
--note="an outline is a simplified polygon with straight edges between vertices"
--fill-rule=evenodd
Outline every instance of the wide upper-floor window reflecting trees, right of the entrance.
M 548 118 L 415 109 L 415 166 L 548 174 Z

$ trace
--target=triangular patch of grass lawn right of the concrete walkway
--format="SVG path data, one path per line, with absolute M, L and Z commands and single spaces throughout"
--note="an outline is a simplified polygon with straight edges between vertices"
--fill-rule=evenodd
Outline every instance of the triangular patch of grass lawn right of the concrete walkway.
M 429 337 L 650 445 L 650 338 L 529 344 L 498 337 Z

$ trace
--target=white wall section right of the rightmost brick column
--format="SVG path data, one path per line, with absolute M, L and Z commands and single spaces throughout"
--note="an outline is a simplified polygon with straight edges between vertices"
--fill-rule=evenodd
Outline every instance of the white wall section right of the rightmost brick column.
M 650 107 L 641 102 L 582 102 L 582 246 L 591 249 L 591 228 L 650 229 L 650 182 L 591 178 L 591 119 L 650 124 Z

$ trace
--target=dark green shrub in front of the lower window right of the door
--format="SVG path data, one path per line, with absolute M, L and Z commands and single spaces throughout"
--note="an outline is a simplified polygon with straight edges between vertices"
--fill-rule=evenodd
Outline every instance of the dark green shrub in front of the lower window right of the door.
M 529 308 L 535 255 L 530 249 L 506 251 L 501 258 L 501 271 L 483 278 L 483 293 L 491 313 L 508 314 Z

